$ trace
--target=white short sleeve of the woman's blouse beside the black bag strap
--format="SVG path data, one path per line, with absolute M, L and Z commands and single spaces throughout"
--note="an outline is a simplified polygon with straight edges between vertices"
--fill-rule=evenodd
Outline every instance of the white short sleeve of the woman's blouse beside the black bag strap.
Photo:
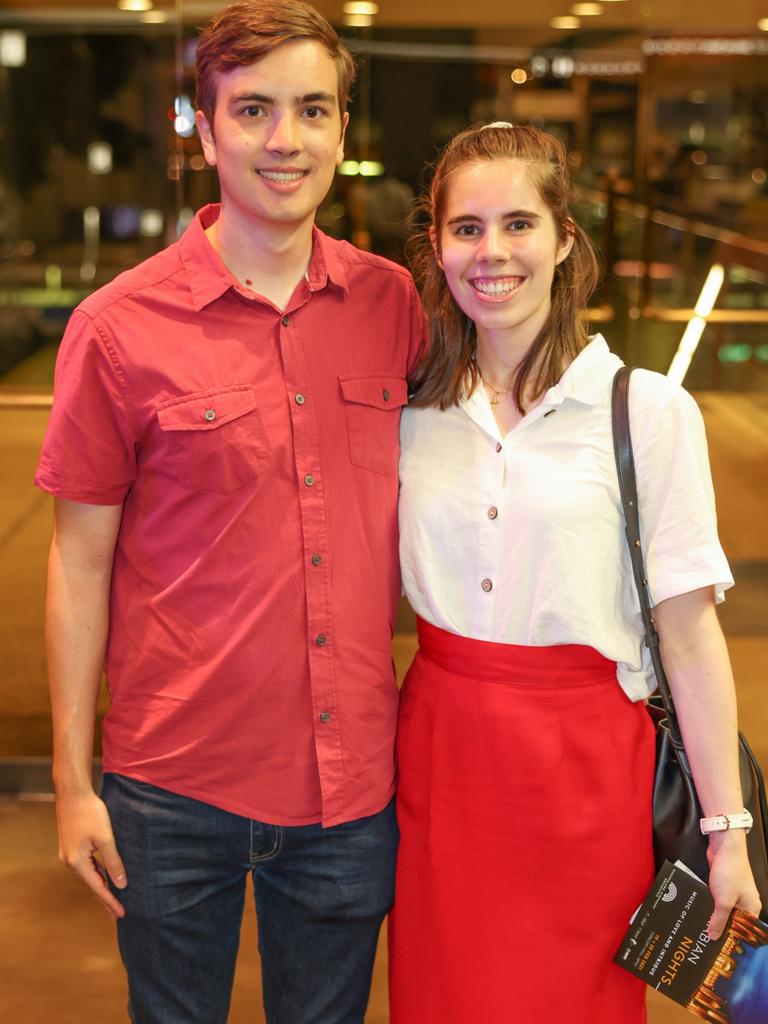
M 686 391 L 659 374 L 636 371 L 632 392 L 640 531 L 651 603 L 709 586 L 720 602 L 733 578 L 717 534 L 701 414 Z

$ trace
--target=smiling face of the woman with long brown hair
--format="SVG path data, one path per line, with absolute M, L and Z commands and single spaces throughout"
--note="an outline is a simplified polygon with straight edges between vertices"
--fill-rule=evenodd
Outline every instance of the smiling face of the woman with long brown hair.
M 522 161 L 467 164 L 447 184 L 439 263 L 478 336 L 509 332 L 526 346 L 549 315 L 555 266 L 572 238 L 554 218 Z

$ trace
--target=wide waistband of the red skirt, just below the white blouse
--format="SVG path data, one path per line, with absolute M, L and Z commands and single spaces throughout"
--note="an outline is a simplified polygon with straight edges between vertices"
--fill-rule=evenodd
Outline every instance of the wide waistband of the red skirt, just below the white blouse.
M 417 616 L 419 653 L 453 675 L 487 682 L 539 687 L 589 686 L 616 681 L 616 664 L 594 647 L 520 644 L 473 640 L 432 626 Z

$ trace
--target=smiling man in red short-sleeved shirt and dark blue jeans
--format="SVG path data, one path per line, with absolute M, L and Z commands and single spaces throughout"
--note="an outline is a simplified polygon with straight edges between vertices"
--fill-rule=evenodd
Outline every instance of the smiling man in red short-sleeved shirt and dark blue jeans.
M 270 1024 L 361 1022 L 392 900 L 422 318 L 403 269 L 314 227 L 352 77 L 303 0 L 220 13 L 198 127 L 221 205 L 86 299 L 56 366 L 37 482 L 59 849 L 118 920 L 142 1024 L 226 1020 L 249 872 Z

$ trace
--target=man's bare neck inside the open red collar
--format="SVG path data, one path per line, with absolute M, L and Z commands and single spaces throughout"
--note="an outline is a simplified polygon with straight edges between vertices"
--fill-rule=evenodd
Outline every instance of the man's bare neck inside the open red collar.
M 250 291 L 285 309 L 312 255 L 312 221 L 264 227 L 226 216 L 206 228 L 226 268 Z

